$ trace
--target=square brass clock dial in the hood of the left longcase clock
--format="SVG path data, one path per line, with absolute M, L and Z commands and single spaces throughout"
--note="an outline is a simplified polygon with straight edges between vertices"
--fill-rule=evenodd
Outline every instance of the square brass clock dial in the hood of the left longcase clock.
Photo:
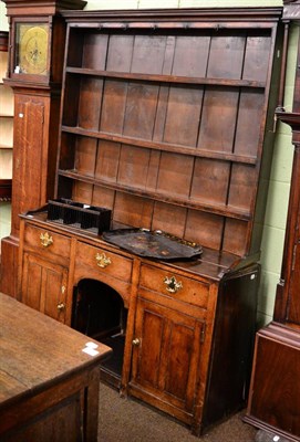
M 45 23 L 19 23 L 15 73 L 45 75 L 49 27 Z

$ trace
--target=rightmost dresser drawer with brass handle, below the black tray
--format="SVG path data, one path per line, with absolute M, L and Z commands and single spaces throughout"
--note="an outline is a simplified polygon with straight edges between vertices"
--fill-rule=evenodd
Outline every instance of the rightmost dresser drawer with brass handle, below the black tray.
M 142 265 L 139 286 L 188 304 L 206 307 L 209 284 L 151 265 Z

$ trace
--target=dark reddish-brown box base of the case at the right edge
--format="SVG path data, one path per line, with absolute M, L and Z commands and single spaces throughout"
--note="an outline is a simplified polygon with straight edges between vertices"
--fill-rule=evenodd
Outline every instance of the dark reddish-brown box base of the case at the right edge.
M 255 360 L 245 421 L 282 435 L 282 441 L 299 441 L 298 330 L 277 323 L 260 329 L 256 338 Z

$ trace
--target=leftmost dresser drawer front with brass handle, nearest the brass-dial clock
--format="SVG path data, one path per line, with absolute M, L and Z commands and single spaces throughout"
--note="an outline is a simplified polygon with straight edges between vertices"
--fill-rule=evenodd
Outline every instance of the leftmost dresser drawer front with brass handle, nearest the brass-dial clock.
M 60 259 L 69 259 L 71 240 L 68 236 L 53 233 L 51 230 L 27 224 L 24 230 L 24 248 L 42 251 L 44 256 L 55 255 Z

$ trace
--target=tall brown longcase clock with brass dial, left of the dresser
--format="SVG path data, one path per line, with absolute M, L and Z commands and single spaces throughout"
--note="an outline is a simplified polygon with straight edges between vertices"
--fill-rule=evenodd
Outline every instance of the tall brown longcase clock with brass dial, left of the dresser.
M 19 213 L 44 204 L 54 192 L 65 9 L 82 0 L 4 0 L 10 25 L 9 67 L 13 88 L 11 234 L 1 242 L 0 290 L 17 295 Z

